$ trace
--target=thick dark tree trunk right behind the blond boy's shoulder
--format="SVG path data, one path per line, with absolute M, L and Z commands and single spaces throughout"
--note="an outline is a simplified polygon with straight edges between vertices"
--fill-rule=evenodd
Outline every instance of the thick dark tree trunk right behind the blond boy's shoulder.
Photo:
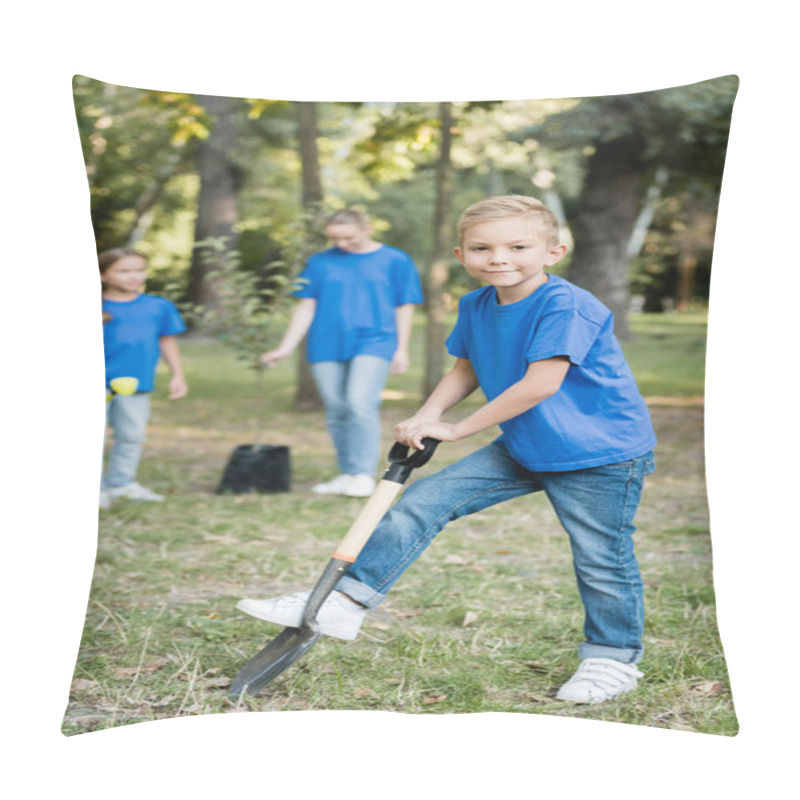
M 639 212 L 644 141 L 630 135 L 597 145 L 572 226 L 569 279 L 614 313 L 620 339 L 630 338 L 628 243 Z

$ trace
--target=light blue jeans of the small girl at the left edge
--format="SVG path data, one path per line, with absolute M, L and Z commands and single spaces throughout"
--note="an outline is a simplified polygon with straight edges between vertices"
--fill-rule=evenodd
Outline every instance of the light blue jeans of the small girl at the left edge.
M 113 431 L 106 474 L 100 486 L 113 489 L 136 480 L 142 457 L 147 421 L 150 418 L 150 394 L 114 395 L 106 404 L 106 424 Z

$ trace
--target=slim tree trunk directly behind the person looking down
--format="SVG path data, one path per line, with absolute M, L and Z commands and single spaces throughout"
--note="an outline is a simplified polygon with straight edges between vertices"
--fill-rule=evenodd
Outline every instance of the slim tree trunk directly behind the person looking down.
M 308 236 L 310 241 L 314 241 L 318 236 L 316 231 L 321 222 L 319 215 L 324 199 L 317 148 L 318 108 L 316 103 L 298 102 L 295 106 L 297 108 L 297 148 L 302 171 L 301 202 L 303 208 L 310 212 Z M 298 411 L 317 411 L 322 408 L 322 401 L 317 392 L 311 366 L 308 363 L 307 351 L 308 342 L 304 339 L 298 348 L 297 392 L 294 397 L 294 407 Z

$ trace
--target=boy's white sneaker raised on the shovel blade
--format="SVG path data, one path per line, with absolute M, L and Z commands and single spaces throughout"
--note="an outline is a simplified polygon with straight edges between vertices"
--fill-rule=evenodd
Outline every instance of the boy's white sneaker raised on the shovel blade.
M 310 594 L 311 592 L 297 592 L 269 600 L 245 598 L 236 604 L 236 608 L 266 622 L 274 622 L 276 625 L 285 625 L 288 628 L 299 628 Z M 317 624 L 326 636 L 352 640 L 358 636 L 366 615 L 367 609 L 364 606 L 340 592 L 332 592 L 317 612 Z

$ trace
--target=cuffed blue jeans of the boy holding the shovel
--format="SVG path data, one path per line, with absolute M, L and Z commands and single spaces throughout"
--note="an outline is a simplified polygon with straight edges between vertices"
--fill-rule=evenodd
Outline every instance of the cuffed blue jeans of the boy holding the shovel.
M 633 518 L 652 453 L 604 467 L 530 472 L 493 442 L 412 483 L 383 518 L 337 589 L 368 608 L 451 520 L 523 494 L 543 491 L 570 538 L 585 611 L 581 658 L 636 663 L 642 657 L 642 579 L 633 552 Z

